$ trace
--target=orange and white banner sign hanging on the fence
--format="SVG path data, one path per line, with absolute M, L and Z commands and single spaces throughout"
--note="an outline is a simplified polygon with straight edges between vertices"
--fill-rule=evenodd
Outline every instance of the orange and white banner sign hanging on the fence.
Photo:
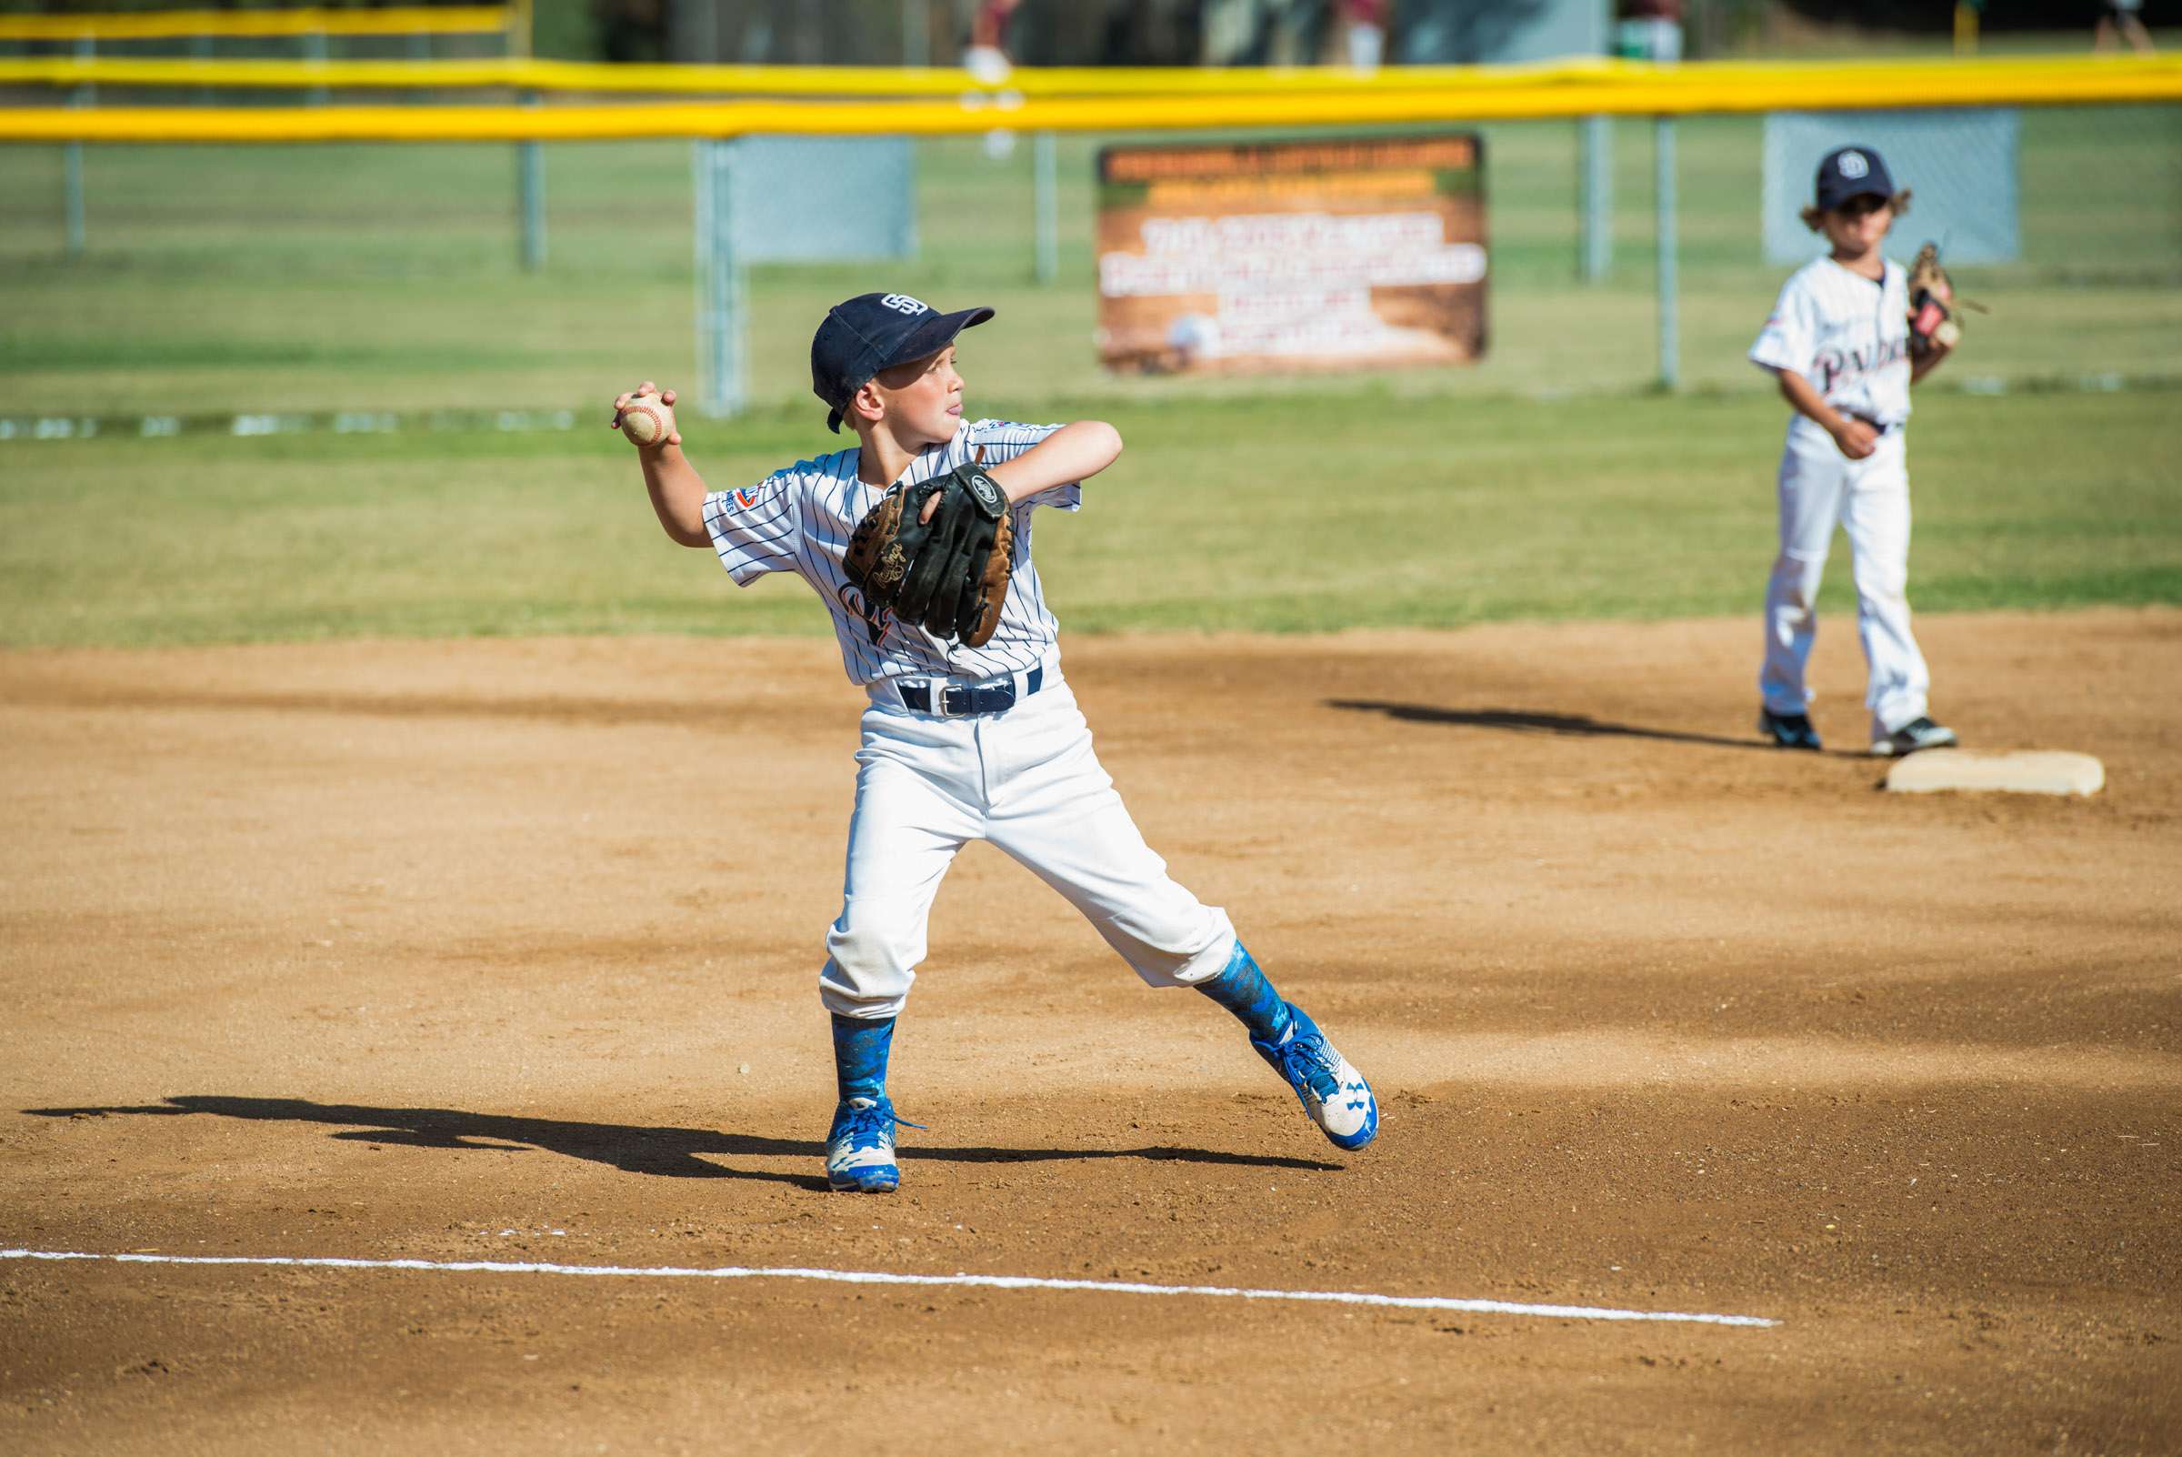
M 1098 290 L 1113 371 L 1466 364 L 1486 347 L 1482 142 L 1108 146 Z

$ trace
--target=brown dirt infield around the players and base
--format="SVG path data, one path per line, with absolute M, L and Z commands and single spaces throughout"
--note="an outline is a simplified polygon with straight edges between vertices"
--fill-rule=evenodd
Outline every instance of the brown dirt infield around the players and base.
M 1968 744 L 2108 790 L 1761 748 L 1746 622 L 1071 643 L 1386 1132 L 971 846 L 890 1200 L 818 1176 L 829 643 L 4 654 L 0 1248 L 1781 1324 L 11 1259 L 0 1450 L 2173 1453 L 2182 613 L 1920 635 Z

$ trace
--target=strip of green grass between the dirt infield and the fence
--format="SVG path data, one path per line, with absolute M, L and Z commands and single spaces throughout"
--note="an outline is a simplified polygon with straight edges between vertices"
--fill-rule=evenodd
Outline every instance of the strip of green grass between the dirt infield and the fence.
M 1754 613 L 1772 558 L 1783 408 L 1759 397 L 1102 412 L 1128 451 L 1036 539 L 1071 630 Z M 2182 393 L 1925 401 L 1911 600 L 2182 602 L 2178 417 Z M 716 486 L 829 443 L 805 410 L 687 434 Z M 738 591 L 670 545 L 602 417 L 0 451 L 9 646 L 827 630 L 799 582 Z M 1846 561 L 1826 591 L 1848 606 Z

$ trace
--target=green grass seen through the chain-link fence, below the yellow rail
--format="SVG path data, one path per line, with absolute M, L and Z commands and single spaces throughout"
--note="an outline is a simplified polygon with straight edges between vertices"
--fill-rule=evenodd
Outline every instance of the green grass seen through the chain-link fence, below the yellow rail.
M 1488 347 L 1453 369 L 1250 380 L 1111 377 L 1095 349 L 1093 161 L 1052 146 L 1041 277 L 1030 135 L 921 140 L 914 257 L 759 262 L 746 275 L 755 408 L 801 401 L 825 305 L 868 288 L 1012 321 L 964 360 L 986 390 L 1041 399 L 1202 393 L 1636 390 L 1658 380 L 1658 129 L 1608 124 L 1610 251 L 1582 277 L 1584 124 L 1497 122 L 1484 137 Z M 1139 137 L 1141 140 L 1141 137 Z M 543 148 L 548 253 L 517 266 L 508 146 L 92 146 L 87 251 L 61 260 L 61 155 L 0 148 L 0 393 L 11 410 L 559 408 L 690 369 L 700 299 L 687 142 Z M 1927 166 L 1920 161 L 1918 166 Z M 2182 327 L 2182 107 L 2029 107 L 2016 118 L 2014 262 L 1964 264 L 1990 314 L 1938 382 L 2101 384 L 2175 371 Z M 1787 264 L 1765 255 L 1765 118 L 1674 124 L 1678 373 L 1763 388 L 1743 351 Z M 1925 179 L 1898 168 L 1905 185 Z M 1807 185 L 1807 183 L 1805 183 Z M 1992 179 L 1994 190 L 2001 179 Z M 1772 203 L 1778 212 L 1783 203 Z M 812 231 L 816 231 L 812 220 Z M 1778 218 L 1774 220 L 1778 222 Z M 794 251 L 794 216 L 775 255 Z M 1907 257 L 1920 216 L 1896 231 Z M 687 384 L 687 380 L 683 380 Z

